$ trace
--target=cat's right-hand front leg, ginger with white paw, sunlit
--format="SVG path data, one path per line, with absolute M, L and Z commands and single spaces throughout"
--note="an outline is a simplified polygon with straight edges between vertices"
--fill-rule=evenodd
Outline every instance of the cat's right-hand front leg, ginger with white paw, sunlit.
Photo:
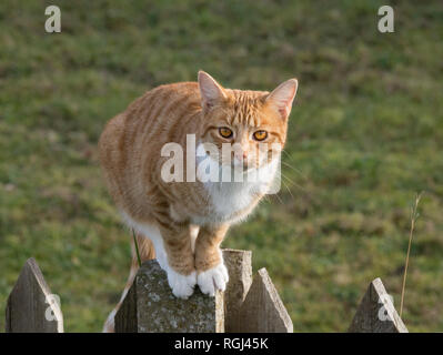
M 220 244 L 229 229 L 228 224 L 201 226 L 195 241 L 197 283 L 201 292 L 210 296 L 224 291 L 229 281 Z

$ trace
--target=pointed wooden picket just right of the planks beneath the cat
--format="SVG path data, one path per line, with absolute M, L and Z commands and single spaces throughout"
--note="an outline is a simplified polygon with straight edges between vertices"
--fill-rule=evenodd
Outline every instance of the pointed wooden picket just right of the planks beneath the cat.
M 291 317 L 265 268 L 259 270 L 240 308 L 244 333 L 292 333 Z

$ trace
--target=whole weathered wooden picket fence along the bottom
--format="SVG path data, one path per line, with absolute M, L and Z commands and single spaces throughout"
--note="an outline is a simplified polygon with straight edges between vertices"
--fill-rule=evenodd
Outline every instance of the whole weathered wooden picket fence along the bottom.
M 224 293 L 175 298 L 155 260 L 139 270 L 115 314 L 118 333 L 292 333 L 292 321 L 265 268 L 252 274 L 251 252 L 223 251 L 230 281 Z M 26 262 L 8 298 L 8 333 L 62 333 L 60 300 L 33 258 Z M 372 281 L 348 329 L 352 333 L 406 333 L 380 278 Z

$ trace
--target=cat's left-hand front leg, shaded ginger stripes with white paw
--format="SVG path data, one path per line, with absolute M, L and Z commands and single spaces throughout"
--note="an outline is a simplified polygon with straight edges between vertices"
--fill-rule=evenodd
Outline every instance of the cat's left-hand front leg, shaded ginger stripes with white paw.
M 185 223 L 162 224 L 160 232 L 167 254 L 160 266 L 168 274 L 168 283 L 174 296 L 188 298 L 194 292 L 197 272 L 192 253 L 192 229 Z

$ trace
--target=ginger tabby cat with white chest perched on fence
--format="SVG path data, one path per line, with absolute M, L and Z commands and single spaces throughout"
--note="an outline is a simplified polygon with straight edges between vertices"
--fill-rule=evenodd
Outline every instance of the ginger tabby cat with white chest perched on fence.
M 103 130 L 100 162 L 110 194 L 125 224 L 137 232 L 142 258 L 157 257 L 177 297 L 188 298 L 197 285 L 210 296 L 225 290 L 229 275 L 220 244 L 230 225 L 244 220 L 270 189 L 296 90 L 296 79 L 271 93 L 231 90 L 199 71 L 198 82 L 148 91 Z M 239 168 L 242 173 L 255 171 L 271 179 L 165 181 L 169 156 L 162 150 L 175 143 L 185 156 L 191 152 L 187 145 L 190 136 L 200 152 L 192 152 L 191 166 L 209 161 L 212 169 Z M 223 154 L 225 144 L 236 149 Z M 276 154 L 260 154 L 263 150 L 268 153 L 270 145 L 278 146 Z M 220 153 L 215 158 L 210 154 L 214 148 Z M 191 170 L 188 162 L 172 169 L 185 178 Z M 133 255 L 121 300 L 137 267 Z M 115 311 L 104 329 L 112 331 Z

